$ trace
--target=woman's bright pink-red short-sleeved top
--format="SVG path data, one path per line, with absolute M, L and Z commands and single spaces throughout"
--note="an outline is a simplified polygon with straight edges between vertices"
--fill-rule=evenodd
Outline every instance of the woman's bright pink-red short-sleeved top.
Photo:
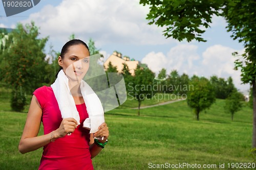
M 48 134 L 59 128 L 62 121 L 57 100 L 51 87 L 43 86 L 33 93 L 42 109 L 44 133 Z M 89 130 L 82 128 L 83 121 L 88 117 L 85 104 L 76 105 L 80 115 L 80 125 L 72 135 L 58 138 L 44 146 L 39 169 L 93 169 L 89 150 Z

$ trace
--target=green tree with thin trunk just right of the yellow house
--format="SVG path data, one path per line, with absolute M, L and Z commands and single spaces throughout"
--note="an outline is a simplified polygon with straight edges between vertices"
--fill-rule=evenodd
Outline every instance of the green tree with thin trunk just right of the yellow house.
M 155 74 L 149 68 L 143 68 L 137 65 L 135 76 L 129 84 L 129 95 L 134 96 L 138 101 L 138 115 L 140 115 L 141 102 L 145 99 L 151 99 L 154 95 L 154 78 Z

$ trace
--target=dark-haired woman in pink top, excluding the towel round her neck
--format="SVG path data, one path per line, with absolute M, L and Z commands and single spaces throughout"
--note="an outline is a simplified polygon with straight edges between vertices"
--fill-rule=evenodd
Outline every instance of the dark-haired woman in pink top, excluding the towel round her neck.
M 89 68 L 89 56 L 86 43 L 71 40 L 62 47 L 58 57 L 58 64 L 68 78 L 80 123 L 72 117 L 61 117 L 52 87 L 43 86 L 33 93 L 18 149 L 24 154 L 44 147 L 39 169 L 93 169 L 91 159 L 108 141 L 109 128 L 106 123 L 102 123 L 94 134 L 82 127 L 88 113 L 79 85 Z M 41 122 L 44 135 L 37 136 Z M 94 137 L 101 137 L 101 140 Z

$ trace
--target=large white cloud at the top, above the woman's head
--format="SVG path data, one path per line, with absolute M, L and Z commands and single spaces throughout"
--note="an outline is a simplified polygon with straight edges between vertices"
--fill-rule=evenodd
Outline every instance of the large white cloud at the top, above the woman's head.
M 162 36 L 161 28 L 147 25 L 148 7 L 138 0 L 122 1 L 62 1 L 58 6 L 47 5 L 33 13 L 24 22 L 34 20 L 43 36 L 66 41 L 75 33 L 77 37 L 93 37 L 99 44 L 133 43 L 166 44 L 174 41 Z

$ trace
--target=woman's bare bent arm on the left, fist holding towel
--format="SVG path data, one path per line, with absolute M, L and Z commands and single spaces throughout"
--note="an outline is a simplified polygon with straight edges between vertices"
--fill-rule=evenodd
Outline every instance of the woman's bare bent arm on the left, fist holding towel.
M 42 109 L 33 95 L 29 112 L 24 127 L 22 137 L 20 138 L 18 150 L 20 153 L 35 151 L 52 140 L 67 135 L 68 132 L 74 132 L 77 122 L 74 118 L 65 118 L 62 120 L 60 127 L 46 135 L 37 136 L 41 124 Z

